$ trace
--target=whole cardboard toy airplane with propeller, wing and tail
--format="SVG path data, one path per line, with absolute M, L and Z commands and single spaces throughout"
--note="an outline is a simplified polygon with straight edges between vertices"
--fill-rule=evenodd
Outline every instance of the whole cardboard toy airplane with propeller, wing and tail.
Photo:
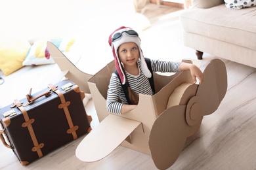
M 154 73 L 156 94 L 140 94 L 136 109 L 111 114 L 106 95 L 114 61 L 93 76 L 82 76 L 54 44 L 47 42 L 47 48 L 62 69 L 72 72 L 68 78 L 83 81 L 93 96 L 100 124 L 77 146 L 75 155 L 81 161 L 98 161 L 121 145 L 151 155 L 158 169 L 167 169 L 179 157 L 186 139 L 198 131 L 203 116 L 215 112 L 226 94 L 226 67 L 221 59 L 213 59 L 203 71 L 202 85 L 193 84 L 190 71 L 171 76 Z

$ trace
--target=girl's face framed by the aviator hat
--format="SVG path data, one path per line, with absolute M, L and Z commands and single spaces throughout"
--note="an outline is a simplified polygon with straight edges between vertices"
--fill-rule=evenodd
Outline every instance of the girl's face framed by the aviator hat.
M 137 65 L 140 52 L 135 42 L 125 42 L 121 44 L 118 48 L 117 53 L 124 67 Z

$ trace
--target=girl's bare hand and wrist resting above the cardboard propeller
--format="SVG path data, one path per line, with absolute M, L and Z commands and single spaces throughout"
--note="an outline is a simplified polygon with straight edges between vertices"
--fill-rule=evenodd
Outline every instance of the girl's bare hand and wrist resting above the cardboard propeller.
M 191 63 L 181 63 L 179 65 L 179 69 L 181 71 L 190 70 L 190 73 L 191 73 L 191 76 L 192 76 L 192 78 L 194 80 L 194 83 L 196 83 L 196 77 L 200 81 L 199 84 L 203 83 L 203 73 L 202 73 L 202 71 L 196 65 L 191 64 Z

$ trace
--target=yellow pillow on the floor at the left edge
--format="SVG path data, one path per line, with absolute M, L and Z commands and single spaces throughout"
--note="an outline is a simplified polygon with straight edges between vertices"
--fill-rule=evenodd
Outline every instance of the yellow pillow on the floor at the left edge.
M 0 42 L 0 69 L 5 76 L 23 67 L 30 43 L 22 40 Z

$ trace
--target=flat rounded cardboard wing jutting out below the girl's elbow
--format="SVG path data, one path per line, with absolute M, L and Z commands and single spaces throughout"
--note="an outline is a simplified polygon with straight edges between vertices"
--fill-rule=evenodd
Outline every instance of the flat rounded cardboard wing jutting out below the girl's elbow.
M 140 122 L 110 114 L 79 143 L 75 155 L 81 161 L 101 160 L 124 139 L 131 143 L 132 139 L 129 135 L 136 128 L 143 133 Z

